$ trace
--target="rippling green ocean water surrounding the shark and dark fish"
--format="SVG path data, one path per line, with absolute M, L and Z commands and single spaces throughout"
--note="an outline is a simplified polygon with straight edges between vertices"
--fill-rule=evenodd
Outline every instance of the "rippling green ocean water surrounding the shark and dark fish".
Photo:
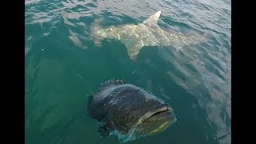
M 166 100 L 177 122 L 130 144 L 231 143 L 231 0 L 26 0 L 26 144 L 118 143 L 102 138 L 86 117 L 86 103 L 101 82 L 123 78 Z M 158 10 L 158 26 L 206 41 L 175 50 L 143 46 L 134 62 L 126 46 L 90 26 L 138 24 Z

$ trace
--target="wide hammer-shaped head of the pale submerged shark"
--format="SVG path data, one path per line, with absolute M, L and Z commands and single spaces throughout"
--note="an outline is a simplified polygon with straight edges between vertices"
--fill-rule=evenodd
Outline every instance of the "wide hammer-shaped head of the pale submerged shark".
M 96 45 L 100 45 L 102 42 L 102 18 L 95 19 L 90 26 L 90 36 L 94 39 Z

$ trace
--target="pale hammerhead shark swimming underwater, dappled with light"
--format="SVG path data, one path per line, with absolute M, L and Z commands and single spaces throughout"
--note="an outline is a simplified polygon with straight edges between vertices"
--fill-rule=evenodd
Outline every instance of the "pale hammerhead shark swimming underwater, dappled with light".
M 91 37 L 96 45 L 101 44 L 104 38 L 114 38 L 126 45 L 130 59 L 136 60 L 143 46 L 174 46 L 177 50 L 185 45 L 198 43 L 199 38 L 188 37 L 184 34 L 162 30 L 158 26 L 161 10 L 151 15 L 137 25 L 119 25 L 102 28 L 96 19 L 90 26 Z

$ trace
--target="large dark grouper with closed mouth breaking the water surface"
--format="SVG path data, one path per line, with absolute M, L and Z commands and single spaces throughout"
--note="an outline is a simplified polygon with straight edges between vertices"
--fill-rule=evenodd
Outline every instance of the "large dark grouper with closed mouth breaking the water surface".
M 123 80 L 102 83 L 87 106 L 88 116 L 102 123 L 98 134 L 120 142 L 158 134 L 177 120 L 168 103 Z

